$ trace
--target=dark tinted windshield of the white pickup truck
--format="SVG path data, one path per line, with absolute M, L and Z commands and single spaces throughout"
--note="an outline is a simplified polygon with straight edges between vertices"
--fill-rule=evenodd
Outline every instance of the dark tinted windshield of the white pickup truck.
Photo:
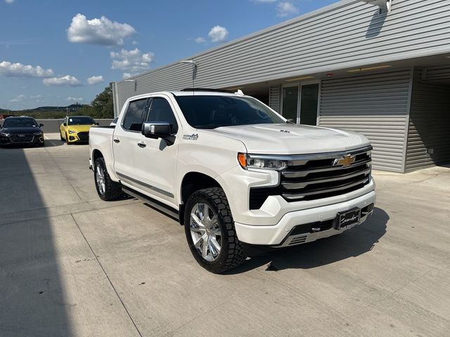
M 176 96 L 176 102 L 194 128 L 285 123 L 257 100 L 227 95 Z

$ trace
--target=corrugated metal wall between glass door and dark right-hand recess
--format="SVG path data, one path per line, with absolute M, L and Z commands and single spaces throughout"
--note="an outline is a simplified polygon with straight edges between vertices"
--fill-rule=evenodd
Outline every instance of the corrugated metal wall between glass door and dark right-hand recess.
M 374 169 L 403 172 L 410 79 L 404 69 L 323 80 L 319 125 L 363 133 Z

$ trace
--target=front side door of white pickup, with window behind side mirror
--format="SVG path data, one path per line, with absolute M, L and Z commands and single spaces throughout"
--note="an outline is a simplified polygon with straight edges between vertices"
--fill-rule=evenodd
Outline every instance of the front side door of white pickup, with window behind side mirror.
M 134 148 L 136 174 L 141 189 L 160 199 L 178 206 L 176 196 L 176 165 L 178 158 L 179 121 L 174 114 L 174 107 L 168 97 L 153 96 L 148 103 L 148 122 L 168 122 L 172 126 L 174 143 L 170 144 L 161 138 L 146 138 L 141 134 L 140 145 Z

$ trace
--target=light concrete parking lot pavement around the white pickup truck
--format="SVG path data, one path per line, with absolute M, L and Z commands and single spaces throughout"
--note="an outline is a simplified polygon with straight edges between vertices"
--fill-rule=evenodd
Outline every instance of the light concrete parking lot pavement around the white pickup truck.
M 374 216 L 257 256 L 195 263 L 183 227 L 101 201 L 87 145 L 0 149 L 0 336 L 449 336 L 450 168 L 375 172 Z

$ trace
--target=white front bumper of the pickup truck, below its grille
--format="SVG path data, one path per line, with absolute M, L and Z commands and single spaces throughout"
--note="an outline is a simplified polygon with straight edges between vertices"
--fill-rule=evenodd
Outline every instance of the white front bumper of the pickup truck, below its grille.
M 340 212 L 356 207 L 359 209 L 370 209 L 372 204 L 375 204 L 375 191 L 338 204 L 291 211 L 286 213 L 276 225 L 244 225 L 243 223 L 235 223 L 236 234 L 238 234 L 238 239 L 246 244 L 280 247 L 304 244 L 323 237 L 340 234 L 351 227 L 347 227 L 345 230 L 335 230 L 332 225 L 329 229 L 317 232 L 295 232 L 295 228 L 300 227 L 299 225 L 327 223 L 335 219 Z M 372 212 L 373 209 L 367 213 L 362 213 L 361 220 L 357 225 L 364 223 L 372 215 Z M 320 227 L 320 225 L 316 225 L 316 227 Z

